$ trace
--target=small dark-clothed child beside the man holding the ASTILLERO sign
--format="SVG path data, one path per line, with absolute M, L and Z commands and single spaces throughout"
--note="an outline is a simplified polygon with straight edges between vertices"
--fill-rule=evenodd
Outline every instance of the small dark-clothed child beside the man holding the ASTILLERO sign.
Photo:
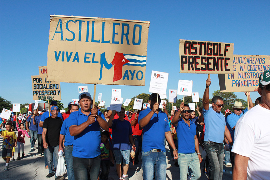
M 110 162 L 114 163 L 113 160 L 113 151 L 110 148 L 109 143 L 110 134 L 108 131 L 103 131 L 101 134 L 101 144 L 100 144 L 100 151 L 101 151 L 101 174 L 100 180 L 108 180 L 109 172 L 110 172 Z M 111 160 L 110 160 L 111 159 Z

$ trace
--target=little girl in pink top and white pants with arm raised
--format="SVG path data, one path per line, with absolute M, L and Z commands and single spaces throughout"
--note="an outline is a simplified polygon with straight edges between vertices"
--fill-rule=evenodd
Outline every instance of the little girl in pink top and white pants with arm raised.
M 18 138 L 17 138 L 17 145 L 18 145 L 18 158 L 17 160 L 20 160 L 20 152 L 21 152 L 21 148 L 22 148 L 22 158 L 24 158 L 24 137 L 25 135 L 27 136 L 27 138 L 30 138 L 27 130 L 24 130 L 24 124 L 20 123 L 18 125 L 18 120 L 16 121 L 16 127 L 18 129 Z

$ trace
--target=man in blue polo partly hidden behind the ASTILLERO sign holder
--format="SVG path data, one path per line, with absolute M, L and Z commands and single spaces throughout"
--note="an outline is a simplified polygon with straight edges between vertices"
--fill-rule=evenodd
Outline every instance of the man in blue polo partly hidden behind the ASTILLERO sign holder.
M 78 111 L 79 106 L 78 104 L 71 104 L 70 106 L 70 113 Z M 67 172 L 68 172 L 68 179 L 69 180 L 74 180 L 74 171 L 73 171 L 73 156 L 72 156 L 72 151 L 73 151 L 73 141 L 74 137 L 70 136 L 69 133 L 69 126 L 68 126 L 68 119 L 66 118 L 65 121 L 62 124 L 62 128 L 60 131 L 60 137 L 59 137 L 59 149 L 58 151 L 63 149 L 63 141 L 65 139 L 65 160 L 67 162 Z

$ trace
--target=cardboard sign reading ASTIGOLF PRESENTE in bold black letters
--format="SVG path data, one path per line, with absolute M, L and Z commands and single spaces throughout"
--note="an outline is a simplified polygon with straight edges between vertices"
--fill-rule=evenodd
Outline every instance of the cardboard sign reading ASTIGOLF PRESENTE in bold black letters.
M 233 73 L 233 43 L 179 41 L 180 73 Z

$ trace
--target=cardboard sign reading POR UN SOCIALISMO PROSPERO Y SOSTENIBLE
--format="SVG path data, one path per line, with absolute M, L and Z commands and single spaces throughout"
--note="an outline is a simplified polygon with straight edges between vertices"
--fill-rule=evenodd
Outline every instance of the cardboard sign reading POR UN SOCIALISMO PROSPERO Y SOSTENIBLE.
M 60 83 L 47 81 L 46 75 L 31 78 L 33 100 L 61 100 Z

